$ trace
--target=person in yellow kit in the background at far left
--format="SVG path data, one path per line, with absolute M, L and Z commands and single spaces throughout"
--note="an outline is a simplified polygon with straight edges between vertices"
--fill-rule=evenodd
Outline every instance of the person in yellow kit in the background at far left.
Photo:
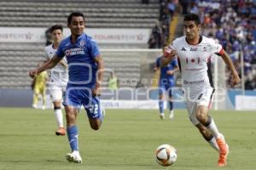
M 43 63 L 39 63 L 38 66 L 42 65 Z M 48 80 L 48 74 L 46 71 L 41 72 L 38 74 L 37 77 L 34 77 L 32 80 L 32 90 L 33 90 L 33 103 L 32 107 L 37 109 L 38 108 L 38 100 L 39 96 L 42 97 L 42 109 L 45 109 L 45 91 L 46 91 L 46 83 Z

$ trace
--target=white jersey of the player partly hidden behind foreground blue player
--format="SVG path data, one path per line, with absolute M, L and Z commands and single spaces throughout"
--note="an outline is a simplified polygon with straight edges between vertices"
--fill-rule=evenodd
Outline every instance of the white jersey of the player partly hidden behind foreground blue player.
M 53 44 L 44 48 L 46 53 L 46 58 L 51 59 L 57 49 L 53 48 Z M 67 63 L 67 59 L 63 58 L 63 61 Z M 66 87 L 68 81 L 68 71 L 60 63 L 55 65 L 54 68 L 50 70 L 50 77 L 49 77 L 49 85 L 59 86 L 59 87 Z

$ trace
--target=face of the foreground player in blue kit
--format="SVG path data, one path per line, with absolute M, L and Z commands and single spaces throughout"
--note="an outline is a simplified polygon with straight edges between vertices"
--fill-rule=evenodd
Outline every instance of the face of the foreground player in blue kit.
M 71 23 L 67 26 L 73 36 L 79 37 L 84 32 L 84 18 L 82 16 L 73 16 Z

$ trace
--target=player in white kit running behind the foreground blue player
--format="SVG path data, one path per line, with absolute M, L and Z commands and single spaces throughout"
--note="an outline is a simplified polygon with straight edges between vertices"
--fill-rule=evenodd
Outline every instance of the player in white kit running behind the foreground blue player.
M 63 37 L 63 27 L 61 25 L 55 25 L 50 28 L 51 39 L 53 41 L 52 44 L 45 47 L 45 54 L 47 60 L 51 59 Z M 67 87 L 68 81 L 68 72 L 67 72 L 67 59 L 63 58 L 58 65 L 50 70 L 50 77 L 48 82 L 48 89 L 50 98 L 52 99 L 54 110 L 55 110 L 55 118 L 58 125 L 58 129 L 55 132 L 56 135 L 65 135 L 66 130 L 63 125 L 63 116 L 61 111 L 61 102 L 62 96 Z

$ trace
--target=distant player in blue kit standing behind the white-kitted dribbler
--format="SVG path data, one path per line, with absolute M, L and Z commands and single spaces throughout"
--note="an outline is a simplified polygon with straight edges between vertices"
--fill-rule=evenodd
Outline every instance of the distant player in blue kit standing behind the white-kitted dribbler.
M 163 52 L 165 51 L 165 48 L 163 48 Z M 168 94 L 169 109 L 170 109 L 169 118 L 172 119 L 174 117 L 172 93 L 173 93 L 173 87 L 175 86 L 174 72 L 178 70 L 177 59 L 172 59 L 172 61 L 168 65 L 161 67 L 160 66 L 161 57 L 162 55 L 160 55 L 156 59 L 154 64 L 154 71 L 158 71 L 158 70 L 160 71 L 160 79 L 159 79 L 160 119 L 165 119 L 165 113 L 164 113 L 164 98 L 165 98 L 164 94 L 165 93 Z

